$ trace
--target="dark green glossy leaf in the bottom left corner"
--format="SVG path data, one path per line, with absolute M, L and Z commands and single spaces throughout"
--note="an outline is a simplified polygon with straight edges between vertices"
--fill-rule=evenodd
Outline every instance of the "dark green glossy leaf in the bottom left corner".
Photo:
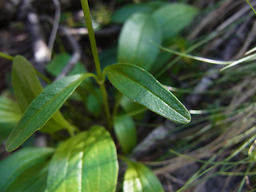
M 40 173 L 46 174 L 47 170 L 43 170 L 43 167 L 46 166 L 47 159 L 50 158 L 53 152 L 54 149 L 46 147 L 26 148 L 2 160 L 0 162 L 1 191 L 32 191 L 28 189 L 36 185 L 34 182 L 40 182 L 39 180 L 42 176 L 40 176 Z M 30 180 L 28 178 L 30 178 Z M 33 179 L 34 182 L 31 182 Z M 43 188 L 45 188 L 45 186 Z M 37 191 L 42 190 L 38 188 Z

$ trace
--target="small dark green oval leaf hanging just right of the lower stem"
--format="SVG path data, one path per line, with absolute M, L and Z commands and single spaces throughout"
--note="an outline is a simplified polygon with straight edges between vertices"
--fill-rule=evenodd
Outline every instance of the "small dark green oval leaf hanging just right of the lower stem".
M 114 118 L 114 133 L 124 154 L 129 154 L 137 144 L 137 133 L 134 120 L 129 116 Z

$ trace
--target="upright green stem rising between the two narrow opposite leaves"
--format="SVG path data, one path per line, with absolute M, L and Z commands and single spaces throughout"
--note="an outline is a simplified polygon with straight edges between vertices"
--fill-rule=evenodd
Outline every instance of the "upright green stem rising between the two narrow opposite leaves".
M 98 50 L 97 50 L 97 46 L 96 46 L 93 25 L 91 23 L 89 5 L 88 5 L 87 0 L 81 0 L 81 4 L 82 4 L 83 14 L 86 19 L 86 26 L 87 26 L 87 30 L 88 30 L 88 34 L 89 34 L 89 38 L 90 38 L 90 47 L 93 52 L 94 64 L 96 67 L 98 79 L 100 82 L 102 82 L 105 78 L 104 77 L 105 75 L 102 74 L 101 65 L 100 65 L 99 58 L 98 58 Z M 112 119 L 110 117 L 110 106 L 108 104 L 108 99 L 107 99 L 107 94 L 106 94 L 106 86 L 104 83 L 99 83 L 99 86 L 100 86 L 100 90 L 102 92 L 103 103 L 104 103 L 105 111 L 106 111 L 106 122 L 107 122 L 108 129 L 110 130 L 112 127 Z

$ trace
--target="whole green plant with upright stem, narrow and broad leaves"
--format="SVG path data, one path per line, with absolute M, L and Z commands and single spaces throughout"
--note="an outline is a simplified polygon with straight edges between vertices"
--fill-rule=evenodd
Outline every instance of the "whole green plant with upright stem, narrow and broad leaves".
M 56 132 L 59 130 L 67 130 L 70 134 L 70 138 L 60 142 L 56 149 L 25 148 L 2 160 L 2 191 L 114 191 L 118 181 L 118 157 L 111 134 L 116 134 L 124 155 L 136 146 L 136 128 L 132 118 L 129 114 L 121 115 L 117 112 L 122 94 L 171 121 L 183 124 L 190 122 L 190 113 L 185 106 L 146 71 L 150 71 L 158 57 L 159 48 L 154 43 L 161 44 L 162 36 L 164 39 L 170 38 L 161 26 L 166 22 L 162 21 L 161 15 L 168 7 L 158 10 L 154 16 L 133 14 L 123 27 L 119 40 L 120 63 L 101 70 L 88 2 L 81 2 L 97 74 L 70 75 L 43 89 L 37 72 L 26 58 L 1 54 L 13 61 L 12 81 L 20 111 L 12 110 L 16 109 L 14 102 L 3 105 L 3 108 L 16 114 L 12 116 L 13 122 L 22 114 L 7 139 L 6 150 L 10 152 L 17 149 L 37 130 L 53 137 L 57 137 Z M 186 9 L 186 6 L 182 7 Z M 196 12 L 193 9 L 191 11 Z M 178 30 L 182 28 L 184 26 Z M 126 41 L 130 33 L 133 36 L 130 41 Z M 113 111 L 108 102 L 106 76 L 122 93 L 117 94 Z M 92 94 L 98 95 L 97 88 L 88 78 L 94 78 L 99 86 L 107 129 L 94 122 L 94 126 L 82 131 L 67 121 L 58 110 L 80 84 L 80 90 L 88 88 L 93 90 Z M 128 165 L 124 191 L 162 191 L 160 182 L 149 168 L 121 155 L 120 158 Z

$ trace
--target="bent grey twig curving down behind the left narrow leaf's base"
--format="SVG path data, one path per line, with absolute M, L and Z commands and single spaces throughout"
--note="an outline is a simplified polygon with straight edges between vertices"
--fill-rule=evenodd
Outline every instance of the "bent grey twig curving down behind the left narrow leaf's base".
M 68 74 L 70 70 L 74 68 L 75 64 L 81 58 L 81 48 L 78 42 L 75 40 L 75 38 L 72 35 L 70 35 L 66 27 L 61 26 L 60 29 L 62 30 L 62 33 L 66 35 L 66 38 L 70 42 L 70 46 L 72 47 L 74 53 L 72 54 L 70 61 L 66 64 L 65 68 L 62 70 L 62 73 L 59 74 L 54 81 L 58 81 L 58 79 L 64 78 L 66 74 Z

